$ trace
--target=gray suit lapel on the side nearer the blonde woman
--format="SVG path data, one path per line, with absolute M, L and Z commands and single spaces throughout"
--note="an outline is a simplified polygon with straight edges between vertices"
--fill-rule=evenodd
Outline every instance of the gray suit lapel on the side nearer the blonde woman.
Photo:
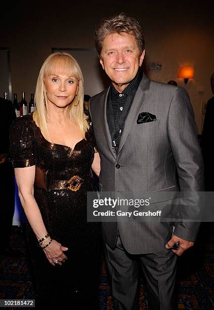
M 108 128 L 108 122 L 107 122 L 107 116 L 106 116 L 106 105 L 107 105 L 107 99 L 108 99 L 108 93 L 109 93 L 110 87 L 106 90 L 106 92 L 100 97 L 100 115 L 102 117 L 102 115 L 104 116 L 103 120 L 102 120 L 102 126 L 103 126 L 103 131 L 106 137 L 106 141 L 108 143 L 108 147 L 114 157 L 114 159 L 116 160 L 116 154 L 112 149 L 112 145 L 111 145 L 111 135 L 110 135 L 110 131 Z

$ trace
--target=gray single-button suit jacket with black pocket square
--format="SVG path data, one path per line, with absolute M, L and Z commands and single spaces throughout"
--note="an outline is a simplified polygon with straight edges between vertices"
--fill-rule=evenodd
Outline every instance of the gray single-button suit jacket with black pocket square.
M 108 92 L 106 89 L 95 95 L 89 103 L 101 158 L 100 190 L 202 191 L 203 161 L 186 90 L 151 81 L 144 74 L 125 120 L 117 156 L 111 147 L 106 119 Z M 156 115 L 157 120 L 137 124 L 139 113 L 145 111 Z M 198 223 L 175 225 L 176 236 L 195 241 Z M 103 222 L 103 238 L 111 248 L 115 246 L 117 229 L 131 254 L 162 251 L 171 234 L 168 222 Z

